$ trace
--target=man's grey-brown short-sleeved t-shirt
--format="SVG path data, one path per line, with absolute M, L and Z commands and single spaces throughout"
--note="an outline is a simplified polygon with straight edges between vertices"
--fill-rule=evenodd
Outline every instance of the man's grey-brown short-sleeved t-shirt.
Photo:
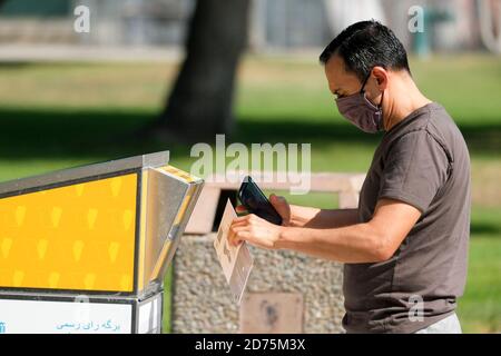
M 410 204 L 422 216 L 389 260 L 344 266 L 347 333 L 416 332 L 452 314 L 463 294 L 470 158 L 439 103 L 415 110 L 384 135 L 361 190 L 361 222 L 371 220 L 382 198 Z

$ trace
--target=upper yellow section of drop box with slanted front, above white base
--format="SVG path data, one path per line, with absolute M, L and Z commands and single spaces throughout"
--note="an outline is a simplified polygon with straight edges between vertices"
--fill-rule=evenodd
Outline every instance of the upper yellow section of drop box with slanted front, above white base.
M 204 184 L 167 164 L 164 151 L 0 184 L 0 290 L 161 290 Z

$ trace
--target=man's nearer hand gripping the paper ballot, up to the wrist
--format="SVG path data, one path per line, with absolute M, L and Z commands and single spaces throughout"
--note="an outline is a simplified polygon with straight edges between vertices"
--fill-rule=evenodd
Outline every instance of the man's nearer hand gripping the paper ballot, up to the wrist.
M 228 231 L 228 241 L 233 246 L 238 246 L 240 241 L 246 240 L 256 247 L 276 249 L 276 243 L 284 229 L 284 226 L 268 222 L 254 214 L 248 214 L 233 220 Z

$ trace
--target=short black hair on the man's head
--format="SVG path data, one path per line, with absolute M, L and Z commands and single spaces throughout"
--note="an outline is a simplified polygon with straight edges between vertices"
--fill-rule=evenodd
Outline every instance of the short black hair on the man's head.
M 375 66 L 411 73 L 402 42 L 391 29 L 375 20 L 360 21 L 344 29 L 324 49 L 320 56 L 321 63 L 327 63 L 334 55 L 338 55 L 345 69 L 354 72 L 361 81 Z

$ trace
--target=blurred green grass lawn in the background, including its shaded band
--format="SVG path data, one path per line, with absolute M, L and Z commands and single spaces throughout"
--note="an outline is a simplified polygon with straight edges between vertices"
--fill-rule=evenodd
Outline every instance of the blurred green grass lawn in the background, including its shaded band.
M 501 332 L 501 61 L 465 55 L 413 59 L 411 67 L 424 93 L 456 120 L 472 158 L 469 279 L 459 316 L 465 332 Z M 0 180 L 164 149 L 189 169 L 189 147 L 137 135 L 155 120 L 176 70 L 168 63 L 0 65 Z M 228 142 L 311 142 L 314 171 L 369 168 L 379 136 L 338 116 L 315 57 L 247 57 L 238 78 Z M 292 199 L 335 206 L 325 195 Z

